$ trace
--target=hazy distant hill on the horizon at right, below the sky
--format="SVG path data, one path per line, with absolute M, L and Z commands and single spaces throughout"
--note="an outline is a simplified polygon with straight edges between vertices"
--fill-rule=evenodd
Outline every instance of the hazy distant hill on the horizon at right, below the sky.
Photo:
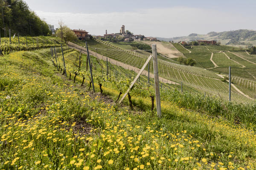
M 236 31 L 209 32 L 208 34 L 189 34 L 189 36 L 161 38 L 162 41 L 195 41 L 195 40 L 217 40 L 223 45 L 256 45 L 256 31 L 239 29 Z

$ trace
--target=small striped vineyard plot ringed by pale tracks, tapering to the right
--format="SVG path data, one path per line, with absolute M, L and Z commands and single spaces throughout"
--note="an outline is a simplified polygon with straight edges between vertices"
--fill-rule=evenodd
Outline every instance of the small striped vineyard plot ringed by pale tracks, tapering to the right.
M 218 66 L 234 66 L 234 67 L 241 67 L 241 65 L 237 64 L 236 62 L 232 61 L 231 59 L 228 59 L 227 56 L 223 53 L 214 53 L 212 60 L 218 65 Z

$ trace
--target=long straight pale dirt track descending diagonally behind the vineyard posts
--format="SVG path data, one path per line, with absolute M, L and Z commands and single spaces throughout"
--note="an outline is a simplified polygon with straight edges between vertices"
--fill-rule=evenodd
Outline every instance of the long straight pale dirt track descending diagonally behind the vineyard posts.
M 70 48 L 75 48 L 76 50 L 79 50 L 79 51 L 81 50 L 82 53 L 87 54 L 86 48 L 81 47 L 81 46 L 79 46 L 79 45 L 76 45 L 76 44 L 74 44 L 73 42 L 68 42 L 67 45 L 68 45 Z M 121 66 L 122 68 L 131 70 L 131 71 L 135 71 L 136 73 L 139 73 L 139 72 L 140 72 L 140 68 L 137 68 L 137 67 L 134 67 L 134 66 L 125 64 L 125 63 L 123 63 L 123 62 L 116 61 L 116 60 L 111 59 L 111 58 L 109 58 L 109 57 L 103 56 L 102 54 L 98 54 L 98 53 L 96 53 L 96 52 L 94 52 L 94 51 L 89 50 L 89 54 L 95 56 L 95 57 L 98 58 L 98 59 L 102 59 L 102 60 L 104 60 L 104 61 L 107 61 L 107 58 L 108 58 L 108 61 L 109 61 L 111 64 L 113 64 L 113 65 Z M 148 76 L 148 71 L 143 70 L 142 75 Z M 152 79 L 154 79 L 154 74 L 149 73 L 149 77 L 152 78 Z M 165 79 L 165 78 L 163 78 L 163 77 L 159 77 L 159 81 L 160 81 L 160 82 L 164 82 L 164 83 L 173 84 L 173 85 L 179 85 L 179 84 L 180 84 L 180 83 L 177 83 L 177 82 L 173 82 L 173 81 L 171 81 L 171 80 L 169 80 L 169 79 Z

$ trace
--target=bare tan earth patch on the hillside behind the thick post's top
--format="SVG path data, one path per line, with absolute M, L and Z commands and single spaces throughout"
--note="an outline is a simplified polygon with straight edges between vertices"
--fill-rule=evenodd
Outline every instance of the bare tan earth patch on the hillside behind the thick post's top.
M 177 51 L 177 49 L 174 48 L 174 46 L 171 43 L 166 44 L 166 46 L 164 46 L 162 44 L 162 42 L 158 42 L 158 41 L 153 41 L 153 42 L 143 41 L 143 43 L 148 44 L 148 45 L 156 44 L 157 52 L 159 52 L 169 58 L 177 58 L 177 55 L 175 55 L 175 54 L 180 54 L 180 51 Z

